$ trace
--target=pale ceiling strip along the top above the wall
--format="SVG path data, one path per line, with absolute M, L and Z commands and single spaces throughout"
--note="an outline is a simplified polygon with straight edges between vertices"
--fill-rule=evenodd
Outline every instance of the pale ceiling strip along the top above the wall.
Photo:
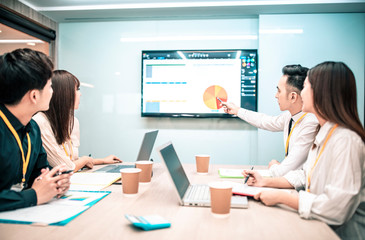
M 365 0 L 19 0 L 56 22 L 229 19 L 365 12 Z

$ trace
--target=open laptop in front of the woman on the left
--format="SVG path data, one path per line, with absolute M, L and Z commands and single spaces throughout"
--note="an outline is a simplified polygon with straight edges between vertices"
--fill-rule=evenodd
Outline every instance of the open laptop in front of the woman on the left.
M 155 144 L 158 130 L 146 132 L 144 134 L 141 147 L 138 152 L 137 161 L 141 160 L 150 160 L 153 145 Z M 151 161 L 153 161 L 151 159 Z M 95 172 L 107 172 L 107 173 L 119 173 L 119 170 L 122 168 L 134 168 L 135 164 L 110 164 L 105 167 L 102 167 Z

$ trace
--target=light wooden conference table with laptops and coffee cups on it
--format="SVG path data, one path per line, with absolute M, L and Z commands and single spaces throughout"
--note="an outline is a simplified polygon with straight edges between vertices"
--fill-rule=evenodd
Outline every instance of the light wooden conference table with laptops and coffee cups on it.
M 207 175 L 198 175 L 194 164 L 183 166 L 190 182 L 199 184 L 222 180 L 218 175 L 221 167 L 248 168 L 211 165 Z M 162 163 L 154 164 L 151 183 L 140 185 L 134 197 L 125 197 L 120 184 L 104 190 L 111 194 L 65 226 L 0 224 L 0 239 L 339 239 L 321 221 L 305 220 L 293 209 L 267 207 L 252 198 L 247 209 L 231 209 L 224 219 L 215 218 L 209 207 L 180 206 Z M 133 227 L 124 214 L 158 214 L 170 221 L 171 227 L 143 231 Z

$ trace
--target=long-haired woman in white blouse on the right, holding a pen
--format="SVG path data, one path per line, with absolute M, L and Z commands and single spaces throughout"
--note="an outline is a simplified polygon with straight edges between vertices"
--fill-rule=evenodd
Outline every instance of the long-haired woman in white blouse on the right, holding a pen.
M 248 185 L 295 188 L 296 193 L 264 191 L 265 205 L 286 204 L 305 219 L 329 224 L 343 239 L 365 238 L 365 131 L 356 100 L 352 71 L 341 62 L 324 62 L 309 70 L 301 92 L 303 112 L 315 114 L 320 129 L 303 170 L 280 178 L 256 171 Z

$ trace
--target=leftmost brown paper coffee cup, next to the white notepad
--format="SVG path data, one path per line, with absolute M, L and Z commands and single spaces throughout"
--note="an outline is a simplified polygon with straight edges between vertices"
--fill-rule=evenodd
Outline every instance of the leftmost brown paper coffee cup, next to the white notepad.
M 125 196 L 134 196 L 138 193 L 139 174 L 141 171 L 142 170 L 139 168 L 120 169 L 120 173 L 122 174 L 123 194 Z

